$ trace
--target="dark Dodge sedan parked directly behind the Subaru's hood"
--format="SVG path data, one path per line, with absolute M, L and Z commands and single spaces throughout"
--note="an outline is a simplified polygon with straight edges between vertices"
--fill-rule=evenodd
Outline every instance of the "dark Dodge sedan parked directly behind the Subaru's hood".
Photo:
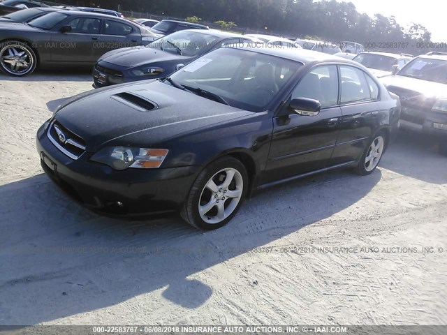
M 210 50 L 251 42 L 249 37 L 219 30 L 182 30 L 145 47 L 127 47 L 101 56 L 93 70 L 94 87 L 170 75 Z

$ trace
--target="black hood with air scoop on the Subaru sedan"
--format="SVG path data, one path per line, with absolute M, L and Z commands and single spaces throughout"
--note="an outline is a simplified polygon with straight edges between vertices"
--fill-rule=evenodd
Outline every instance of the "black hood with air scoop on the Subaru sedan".
M 82 137 L 87 151 L 97 151 L 149 146 L 249 114 L 254 113 L 149 80 L 75 96 L 57 108 L 54 119 Z

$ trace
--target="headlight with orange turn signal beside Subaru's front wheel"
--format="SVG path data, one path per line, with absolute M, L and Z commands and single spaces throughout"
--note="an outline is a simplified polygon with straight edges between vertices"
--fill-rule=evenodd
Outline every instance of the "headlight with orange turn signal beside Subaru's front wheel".
M 168 156 L 166 149 L 144 149 L 131 147 L 109 147 L 94 154 L 91 161 L 109 165 L 115 170 L 155 169 L 160 168 L 161 163 Z

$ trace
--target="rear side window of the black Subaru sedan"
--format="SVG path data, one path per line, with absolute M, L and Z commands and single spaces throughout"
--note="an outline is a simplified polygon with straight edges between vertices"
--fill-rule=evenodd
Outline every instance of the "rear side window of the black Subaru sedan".
M 351 66 L 340 66 L 342 76 L 341 103 L 356 103 L 371 100 L 369 87 L 362 70 Z

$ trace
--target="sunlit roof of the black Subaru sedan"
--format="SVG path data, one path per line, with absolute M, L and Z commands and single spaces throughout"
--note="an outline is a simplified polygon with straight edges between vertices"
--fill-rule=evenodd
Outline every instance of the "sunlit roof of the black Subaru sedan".
M 314 61 L 334 61 L 336 63 L 358 65 L 356 61 L 337 57 L 332 54 L 324 54 L 323 52 L 318 51 L 298 49 L 296 47 L 266 47 L 265 45 L 251 46 L 250 44 L 234 45 L 234 47 L 241 50 L 250 50 L 254 52 L 260 52 L 262 54 L 270 54 L 276 57 L 291 59 L 293 61 L 300 61 L 304 64 L 313 63 Z

